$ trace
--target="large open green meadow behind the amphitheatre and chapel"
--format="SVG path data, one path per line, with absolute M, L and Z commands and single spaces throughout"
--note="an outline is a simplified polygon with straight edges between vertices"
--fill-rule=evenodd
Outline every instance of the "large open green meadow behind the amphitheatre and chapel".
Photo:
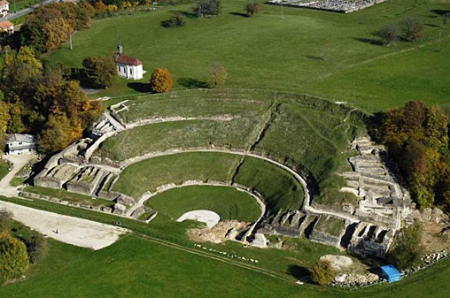
M 100 19 L 74 36 L 74 50 L 65 45 L 49 58 L 81 66 L 84 57 L 110 55 L 120 36 L 124 52 L 141 59 L 145 70 L 168 68 L 176 88 L 202 86 L 208 65 L 218 62 L 228 70 L 228 87 L 312 93 L 355 103 L 368 111 L 415 99 L 446 103 L 450 85 L 442 74 L 448 66 L 448 40 L 440 53 L 434 52 L 437 45 L 432 44 L 384 57 L 434 42 L 438 30 L 446 37 L 449 30 L 434 12 L 450 10 L 446 0 L 390 0 L 350 14 L 284 7 L 284 19 L 280 7 L 274 5 L 263 4 L 258 16 L 244 18 L 238 14 L 243 12 L 243 1 L 222 4 L 220 17 L 190 19 L 182 28 L 161 27 L 160 23 L 175 11 L 190 12 L 190 4 Z M 374 33 L 380 27 L 408 17 L 425 24 L 422 41 L 397 42 L 392 47 L 376 44 Z M 143 84 L 148 79 L 149 73 L 139 82 L 120 80 L 97 96 L 137 94 L 148 89 Z

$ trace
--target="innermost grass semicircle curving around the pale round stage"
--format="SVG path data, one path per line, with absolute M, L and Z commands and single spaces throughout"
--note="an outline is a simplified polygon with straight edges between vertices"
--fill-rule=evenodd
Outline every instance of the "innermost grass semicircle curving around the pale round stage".
M 176 219 L 191 210 L 211 210 L 221 220 L 252 222 L 260 217 L 255 199 L 232 187 L 191 186 L 174 188 L 151 197 L 146 206 Z

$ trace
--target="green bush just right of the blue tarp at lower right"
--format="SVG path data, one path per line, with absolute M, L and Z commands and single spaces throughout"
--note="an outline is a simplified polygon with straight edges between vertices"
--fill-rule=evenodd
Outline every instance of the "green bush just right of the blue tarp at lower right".
M 391 258 L 400 269 L 407 269 L 420 263 L 423 255 L 421 233 L 422 225 L 415 222 L 395 235 L 388 258 Z

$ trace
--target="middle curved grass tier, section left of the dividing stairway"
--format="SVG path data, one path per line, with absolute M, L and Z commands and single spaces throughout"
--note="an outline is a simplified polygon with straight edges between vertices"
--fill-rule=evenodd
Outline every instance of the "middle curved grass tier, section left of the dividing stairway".
M 155 191 L 167 183 L 181 184 L 183 180 L 229 181 L 240 156 L 215 152 L 178 153 L 152 157 L 131 164 L 112 187 L 136 199 L 146 191 Z

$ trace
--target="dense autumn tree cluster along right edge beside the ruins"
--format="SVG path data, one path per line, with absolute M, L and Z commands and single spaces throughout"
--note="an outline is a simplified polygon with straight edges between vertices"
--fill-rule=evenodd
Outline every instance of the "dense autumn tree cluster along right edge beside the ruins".
M 374 125 L 375 123 L 375 125 Z M 449 119 L 438 107 L 409 102 L 374 118 L 371 133 L 389 157 L 419 207 L 450 209 Z

